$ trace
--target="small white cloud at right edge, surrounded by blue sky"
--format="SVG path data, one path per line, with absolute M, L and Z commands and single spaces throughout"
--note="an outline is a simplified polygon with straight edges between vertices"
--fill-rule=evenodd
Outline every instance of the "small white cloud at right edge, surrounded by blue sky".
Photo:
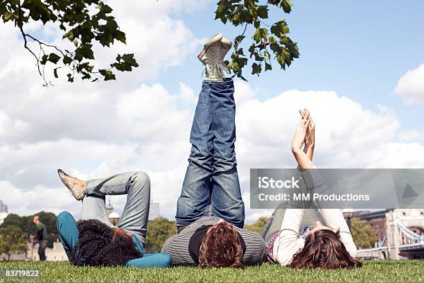
M 424 64 L 400 77 L 394 92 L 407 104 L 424 103 Z

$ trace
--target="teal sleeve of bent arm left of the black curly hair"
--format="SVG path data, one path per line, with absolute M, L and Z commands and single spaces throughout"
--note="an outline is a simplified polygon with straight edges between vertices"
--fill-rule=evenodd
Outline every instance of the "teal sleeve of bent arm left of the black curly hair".
M 56 218 L 56 227 L 58 228 L 59 239 L 69 259 L 72 248 L 78 242 L 78 226 L 69 212 L 60 212 L 58 218 Z

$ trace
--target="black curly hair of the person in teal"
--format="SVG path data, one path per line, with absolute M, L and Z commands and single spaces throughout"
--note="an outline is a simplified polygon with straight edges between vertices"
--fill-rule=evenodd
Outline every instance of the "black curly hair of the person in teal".
M 78 232 L 78 243 L 69 258 L 72 264 L 118 266 L 141 256 L 130 237 L 115 233 L 96 219 L 81 221 Z

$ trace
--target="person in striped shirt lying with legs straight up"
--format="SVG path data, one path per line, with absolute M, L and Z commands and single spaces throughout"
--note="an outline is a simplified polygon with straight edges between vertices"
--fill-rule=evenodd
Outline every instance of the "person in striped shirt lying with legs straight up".
M 191 154 L 177 201 L 178 234 L 162 248 L 173 264 L 233 267 L 259 264 L 265 241 L 243 229 L 245 205 L 236 166 L 236 103 L 231 78 L 223 78 L 231 41 L 213 36 L 197 56 L 206 65 L 190 142 Z

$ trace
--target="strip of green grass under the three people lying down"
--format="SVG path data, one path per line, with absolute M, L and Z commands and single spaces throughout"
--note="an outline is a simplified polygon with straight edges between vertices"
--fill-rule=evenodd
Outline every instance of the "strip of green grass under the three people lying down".
M 0 282 L 424 282 L 424 260 L 365 261 L 353 270 L 293 270 L 263 264 L 245 269 L 175 268 L 91 268 L 71 266 L 67 261 L 9 261 L 0 270 L 39 269 L 42 277 Z

